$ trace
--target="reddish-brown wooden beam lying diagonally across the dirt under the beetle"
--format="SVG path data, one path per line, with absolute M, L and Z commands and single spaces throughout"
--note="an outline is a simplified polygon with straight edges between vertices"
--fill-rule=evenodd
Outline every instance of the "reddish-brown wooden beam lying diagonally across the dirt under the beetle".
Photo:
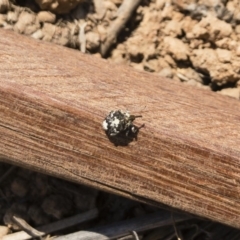
M 101 123 L 141 114 L 115 146 Z M 0 31 L 0 158 L 240 227 L 240 103 Z

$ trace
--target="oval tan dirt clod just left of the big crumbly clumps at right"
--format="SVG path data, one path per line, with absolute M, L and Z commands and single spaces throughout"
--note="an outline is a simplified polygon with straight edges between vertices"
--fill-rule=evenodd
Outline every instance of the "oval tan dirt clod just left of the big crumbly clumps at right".
M 164 48 L 177 61 L 188 59 L 189 48 L 178 38 L 165 37 Z

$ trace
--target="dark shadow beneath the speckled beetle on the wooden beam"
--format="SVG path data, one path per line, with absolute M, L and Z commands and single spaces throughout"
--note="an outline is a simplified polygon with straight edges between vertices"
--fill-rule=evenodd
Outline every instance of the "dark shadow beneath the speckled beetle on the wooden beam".
M 134 128 L 136 129 L 135 132 L 131 131 L 131 130 L 125 130 L 123 132 L 120 132 L 118 135 L 116 136 L 110 136 L 110 134 L 105 131 L 108 139 L 110 142 L 112 142 L 116 147 L 117 146 L 128 146 L 128 144 L 132 141 L 137 141 L 138 139 L 138 133 L 139 130 L 144 127 L 144 124 L 140 127 L 137 127 L 135 125 L 133 125 Z

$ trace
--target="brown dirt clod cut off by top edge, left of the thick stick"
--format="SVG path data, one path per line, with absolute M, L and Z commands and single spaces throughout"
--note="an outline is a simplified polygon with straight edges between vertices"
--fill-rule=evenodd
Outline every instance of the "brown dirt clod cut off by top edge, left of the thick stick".
M 42 10 L 51 11 L 57 14 L 69 13 L 83 0 L 35 0 Z

